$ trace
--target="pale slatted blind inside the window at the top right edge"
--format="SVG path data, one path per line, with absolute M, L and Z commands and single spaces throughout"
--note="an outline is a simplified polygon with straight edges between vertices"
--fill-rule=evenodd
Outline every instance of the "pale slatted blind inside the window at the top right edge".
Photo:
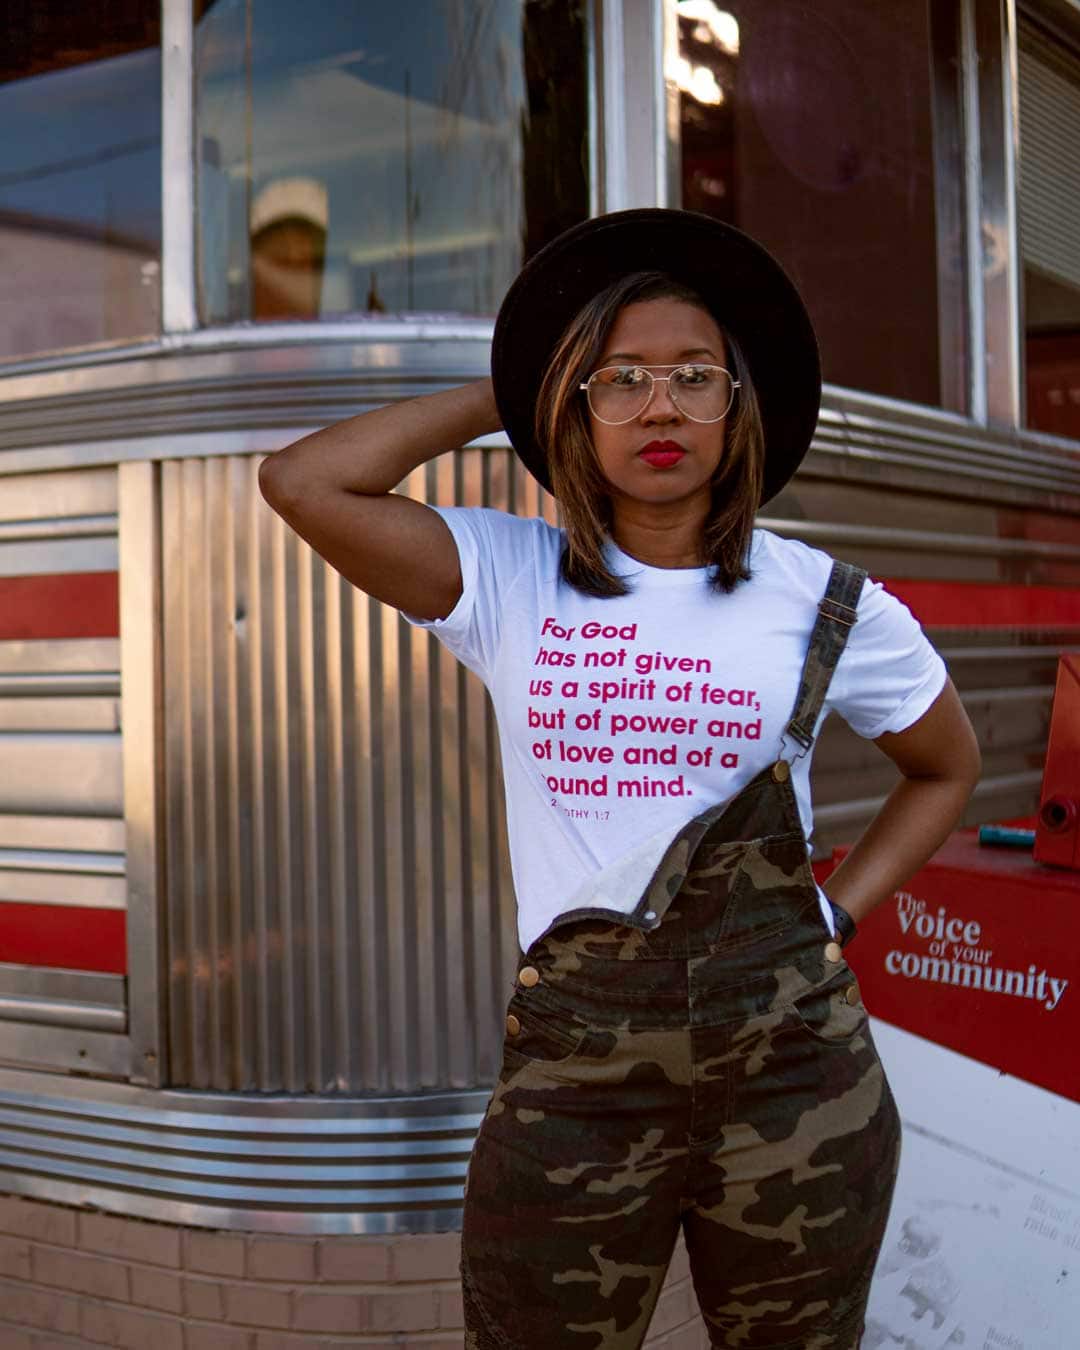
M 1023 261 L 1080 286 L 1080 62 L 1048 51 L 1030 24 L 1018 61 Z

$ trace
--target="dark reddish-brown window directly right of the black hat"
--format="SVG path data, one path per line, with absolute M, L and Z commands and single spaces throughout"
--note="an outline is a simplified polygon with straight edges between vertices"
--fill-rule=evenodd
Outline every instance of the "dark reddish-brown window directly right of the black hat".
M 911 0 L 679 0 L 682 200 L 799 286 L 825 378 L 967 408 L 954 18 Z

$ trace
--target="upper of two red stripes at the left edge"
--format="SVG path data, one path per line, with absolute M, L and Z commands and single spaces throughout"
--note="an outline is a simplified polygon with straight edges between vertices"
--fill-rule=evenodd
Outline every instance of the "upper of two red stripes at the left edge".
M 119 636 L 117 572 L 0 576 L 0 639 Z

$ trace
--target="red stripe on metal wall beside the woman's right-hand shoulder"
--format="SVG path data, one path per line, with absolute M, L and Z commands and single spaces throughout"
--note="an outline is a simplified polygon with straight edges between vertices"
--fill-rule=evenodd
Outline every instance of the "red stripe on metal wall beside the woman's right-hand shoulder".
M 927 628 L 1080 628 L 1080 590 L 882 578 Z

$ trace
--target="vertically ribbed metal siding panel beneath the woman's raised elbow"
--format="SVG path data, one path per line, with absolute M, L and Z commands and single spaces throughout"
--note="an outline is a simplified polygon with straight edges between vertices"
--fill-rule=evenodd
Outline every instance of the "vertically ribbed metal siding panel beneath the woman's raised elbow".
M 517 946 L 486 694 L 317 559 L 256 466 L 162 466 L 169 1080 L 490 1081 Z M 540 510 L 518 474 L 463 451 L 409 491 Z

